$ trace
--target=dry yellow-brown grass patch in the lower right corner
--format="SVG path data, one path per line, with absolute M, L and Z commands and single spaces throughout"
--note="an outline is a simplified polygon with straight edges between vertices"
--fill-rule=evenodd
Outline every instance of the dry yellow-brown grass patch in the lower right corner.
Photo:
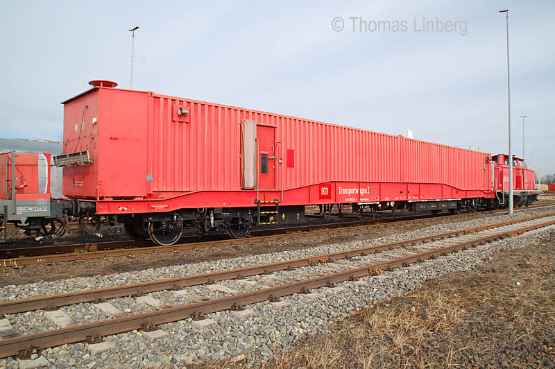
M 549 232 L 538 245 L 500 252 L 475 271 L 359 311 L 268 363 L 206 367 L 553 368 L 554 250 Z

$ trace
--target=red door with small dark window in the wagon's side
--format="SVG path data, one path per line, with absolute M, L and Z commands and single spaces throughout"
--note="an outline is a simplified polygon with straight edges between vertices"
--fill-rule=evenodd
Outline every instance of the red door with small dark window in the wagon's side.
M 275 189 L 275 137 L 274 127 L 257 126 L 258 187 Z

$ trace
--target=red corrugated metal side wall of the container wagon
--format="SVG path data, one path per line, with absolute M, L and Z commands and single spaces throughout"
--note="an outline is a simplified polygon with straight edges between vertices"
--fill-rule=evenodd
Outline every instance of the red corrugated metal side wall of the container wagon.
M 326 181 L 445 183 L 485 189 L 485 153 L 223 105 L 153 95 L 148 119 L 148 171 L 153 191 L 241 189 L 240 122 L 276 127 L 283 142 L 284 188 Z M 186 105 L 189 123 L 172 119 Z M 287 150 L 294 166 L 287 167 Z M 276 163 L 278 161 L 276 160 Z M 280 189 L 280 164 L 275 169 Z

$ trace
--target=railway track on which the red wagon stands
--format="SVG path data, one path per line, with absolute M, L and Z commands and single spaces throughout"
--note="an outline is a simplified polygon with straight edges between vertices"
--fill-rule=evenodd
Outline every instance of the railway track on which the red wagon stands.
M 533 209 L 540 207 L 554 206 L 553 203 L 543 203 L 530 205 L 518 210 Z M 464 213 L 464 214 L 435 214 L 433 218 L 465 218 L 469 216 L 495 214 L 506 212 L 505 209 L 488 210 L 486 212 L 477 213 Z M 18 267 L 33 264 L 49 264 L 62 261 L 76 261 L 99 259 L 102 257 L 121 257 L 139 254 L 151 254 L 155 252 L 173 252 L 179 250 L 196 250 L 200 248 L 230 246 L 241 243 L 250 243 L 255 241 L 271 241 L 280 237 L 304 237 L 309 234 L 326 234 L 336 232 L 337 230 L 356 230 L 357 228 L 366 228 L 370 225 L 379 227 L 385 226 L 388 223 L 417 223 L 427 221 L 430 215 L 411 215 L 398 218 L 379 218 L 379 219 L 363 219 L 339 223 L 326 223 L 315 225 L 302 225 L 291 228 L 278 228 L 271 230 L 256 230 L 253 231 L 253 237 L 247 239 L 221 239 L 215 241 L 193 241 L 188 243 L 178 243 L 172 246 L 151 246 L 150 241 L 112 241 L 112 242 L 97 242 L 97 243 L 83 243 L 75 245 L 51 245 L 51 246 L 37 246 L 32 248 L 10 248 L 0 250 L 0 266 L 2 267 Z M 268 234 L 269 233 L 269 234 Z M 192 237 L 196 239 L 196 237 Z M 28 256 L 31 255 L 31 256 Z

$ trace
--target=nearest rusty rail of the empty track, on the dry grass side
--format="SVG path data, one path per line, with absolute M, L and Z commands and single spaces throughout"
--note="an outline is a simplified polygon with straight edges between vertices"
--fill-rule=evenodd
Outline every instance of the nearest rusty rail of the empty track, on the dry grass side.
M 241 309 L 247 304 L 262 302 L 264 300 L 275 301 L 283 296 L 292 295 L 293 293 L 307 293 L 311 289 L 332 286 L 335 283 L 344 282 L 346 280 L 356 280 L 357 278 L 364 277 L 366 275 L 382 273 L 383 271 L 391 270 L 400 266 L 408 266 L 409 264 L 414 264 L 426 259 L 447 255 L 450 252 L 456 252 L 472 246 L 496 241 L 504 237 L 510 237 L 553 224 L 555 224 L 555 221 L 548 221 L 521 228 L 520 230 L 513 230 L 502 234 L 483 237 L 474 241 L 457 243 L 456 245 L 445 246 L 436 250 L 420 252 L 415 255 L 369 264 L 368 266 L 352 268 L 348 271 L 332 273 L 330 275 L 275 286 L 268 289 L 241 293 L 239 295 L 225 296 L 214 300 L 196 302 L 194 304 L 185 304 L 179 307 L 149 311 L 147 313 L 135 314 L 133 316 L 101 320 L 99 322 L 74 325 L 63 329 L 53 329 L 46 332 L 7 338 L 0 341 L 0 357 L 8 357 L 10 355 L 29 352 L 30 349 L 40 350 L 56 345 L 63 345 L 65 343 L 94 341 L 94 339 L 98 337 L 129 332 L 133 329 L 148 329 L 156 325 L 170 323 L 186 318 L 200 318 L 204 314 L 216 311 Z

